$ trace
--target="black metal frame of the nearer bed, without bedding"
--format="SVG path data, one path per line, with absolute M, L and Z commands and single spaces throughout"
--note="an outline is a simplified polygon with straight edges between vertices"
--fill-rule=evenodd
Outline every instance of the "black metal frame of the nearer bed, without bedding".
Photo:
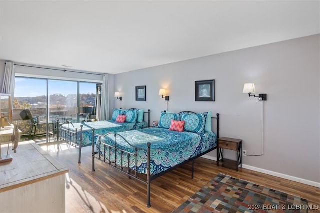
M 194 113 L 194 112 L 192 112 L 192 111 L 183 111 L 183 112 L 186 112 L 186 113 Z M 216 119 L 216 136 L 217 136 L 217 139 L 219 138 L 219 113 L 217 113 L 216 114 L 216 117 L 211 117 L 211 119 Z M 105 137 L 105 136 L 107 136 L 107 135 L 110 135 L 110 134 L 114 134 L 114 138 L 115 138 L 115 141 L 114 141 L 114 146 L 111 146 L 111 145 L 108 145 L 108 144 L 106 144 L 106 143 L 103 143 L 103 142 L 101 142 L 100 140 L 101 140 L 101 137 Z M 98 142 L 100 142 L 101 144 L 103 144 L 104 146 L 105 146 L 105 149 L 104 150 L 106 150 L 106 149 L 108 149 L 109 150 L 109 152 L 108 152 L 108 159 L 106 159 L 105 158 L 105 153 L 104 153 L 104 156 L 103 156 L 103 158 L 101 159 L 101 154 L 100 153 L 98 153 L 98 152 L 96 152 L 95 151 L 95 144 L 94 144 L 94 141 L 93 141 L 93 136 L 94 136 L 95 134 L 94 134 L 94 129 L 92 129 L 92 171 L 95 171 L 95 166 L 94 166 L 94 160 L 95 159 L 98 159 L 98 160 L 100 160 L 100 161 L 102 161 L 102 162 L 104 162 L 104 163 L 106 163 L 106 164 L 108 164 L 108 165 L 110 165 L 110 166 L 112 166 L 113 168 L 115 168 L 115 169 L 117 169 L 117 170 L 119 170 L 119 171 L 121 171 L 121 172 L 123 172 L 123 173 L 125 173 L 126 175 L 128 175 L 128 177 L 129 178 L 135 178 L 135 179 L 137 179 L 137 180 L 139 180 L 140 182 L 142 182 L 142 183 L 144 183 L 144 184 L 146 184 L 147 185 L 147 201 L 146 201 L 146 206 L 147 207 L 150 207 L 151 206 L 151 203 L 150 203 L 150 190 L 151 190 L 151 181 L 152 180 L 154 180 L 154 179 L 156 179 L 156 178 L 158 178 L 158 177 L 160 177 L 160 176 L 162 176 L 162 175 L 164 175 L 164 174 L 166 174 L 166 173 L 168 173 L 168 172 L 170 172 L 170 171 L 172 171 L 172 170 L 174 170 L 174 169 L 176 169 L 176 168 L 178 168 L 178 167 L 180 167 L 180 166 L 182 166 L 182 165 L 184 165 L 184 164 L 186 164 L 186 163 L 188 163 L 188 162 L 190 162 L 190 161 L 192 161 L 192 166 L 191 166 L 191 178 L 193 178 L 194 177 L 194 159 L 196 159 L 196 158 L 198 158 L 198 157 L 200 157 L 200 156 L 202 156 L 202 155 L 204 155 L 204 154 L 207 154 L 208 152 L 211 152 L 212 150 L 214 150 L 214 149 L 217 149 L 217 156 L 218 156 L 218 151 L 219 151 L 219 149 L 218 149 L 218 144 L 215 146 L 215 147 L 213 147 L 213 148 L 211 148 L 211 149 L 209 149 L 209 150 L 207 150 L 207 151 L 205 151 L 205 152 L 203 152 L 203 153 L 200 153 L 199 155 L 197 155 L 197 156 L 194 156 L 194 157 L 192 157 L 192 158 L 190 158 L 190 159 L 188 159 L 188 160 L 185 160 L 185 161 L 183 161 L 182 163 L 180 163 L 180 164 L 177 164 L 177 165 L 175 165 L 174 167 L 171 167 L 171 168 L 169 168 L 169 169 L 167 169 L 167 170 L 165 170 L 165 171 L 163 171 L 163 172 L 160 172 L 160 173 L 158 173 L 158 174 L 155 174 L 155 175 L 151 175 L 150 174 L 150 146 L 151 146 L 151 143 L 150 142 L 146 142 L 146 145 L 147 145 L 147 148 L 145 149 L 145 148 L 141 148 L 141 147 L 137 147 L 137 146 L 134 146 L 134 145 L 132 145 L 132 144 L 130 144 L 126 139 L 124 139 L 119 133 L 107 133 L 107 134 L 105 134 L 105 135 L 98 135 L 98 134 L 96 134 L 97 136 L 98 136 L 98 140 L 97 140 L 97 142 L 96 143 L 98 143 Z M 116 146 L 116 137 L 121 137 L 122 139 L 124 139 L 124 141 L 126 142 L 126 143 L 128 143 L 131 147 L 134 147 L 134 153 L 130 153 L 130 152 L 127 152 L 127 151 L 125 151 L 125 150 L 121 150 L 121 149 L 119 149 L 119 148 L 117 148 L 117 146 Z M 217 141 L 217 143 L 218 143 L 218 141 Z M 107 147 L 107 148 L 106 148 Z M 115 162 L 111 162 L 109 159 L 110 159 L 110 150 L 111 149 L 114 149 L 114 153 L 117 153 L 117 151 L 119 151 L 121 154 L 120 154 L 120 156 L 117 156 L 117 154 L 115 154 L 115 156 L 114 156 L 114 158 L 115 158 Z M 123 164 L 122 164 L 122 160 L 121 160 L 121 163 L 120 163 L 120 165 L 117 165 L 116 164 L 116 159 L 118 159 L 118 158 L 120 158 L 120 159 L 122 159 L 122 157 L 123 156 L 126 156 L 127 157 L 127 159 L 128 159 L 128 162 L 130 162 L 130 159 L 131 158 L 133 158 L 133 161 L 135 162 L 135 168 L 136 168 L 136 155 L 137 155 L 137 151 L 138 150 L 145 150 L 146 152 L 147 152 L 147 173 L 146 173 L 146 180 L 144 180 L 144 179 L 142 179 L 142 178 L 140 178 L 139 176 L 138 176 L 138 172 L 136 172 L 136 171 L 134 171 L 133 173 L 131 173 L 131 169 L 130 168 L 127 168 L 127 171 L 124 171 L 124 167 L 123 167 Z

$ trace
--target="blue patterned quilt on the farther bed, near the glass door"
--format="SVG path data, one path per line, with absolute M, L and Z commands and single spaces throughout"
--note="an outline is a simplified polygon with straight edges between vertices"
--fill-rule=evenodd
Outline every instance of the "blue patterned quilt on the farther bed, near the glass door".
M 95 134 L 105 135 L 108 132 L 122 132 L 128 130 L 135 130 L 147 127 L 146 122 L 137 122 L 137 123 L 117 123 L 114 120 L 107 121 L 94 121 L 94 122 L 82 122 L 82 123 L 73 123 L 61 125 L 60 136 L 72 141 L 77 146 L 80 144 L 80 128 L 83 125 L 83 135 L 82 135 L 82 147 L 92 145 L 92 129 L 95 129 Z M 77 136 L 72 137 L 70 132 L 67 130 L 75 132 L 77 129 Z M 63 131 L 63 132 L 62 132 Z M 94 137 L 94 142 L 96 142 Z

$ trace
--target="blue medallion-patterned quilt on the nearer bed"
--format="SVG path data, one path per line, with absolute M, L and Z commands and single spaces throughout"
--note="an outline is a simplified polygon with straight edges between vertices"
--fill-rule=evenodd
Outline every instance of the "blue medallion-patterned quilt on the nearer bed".
M 176 132 L 164 128 L 145 128 L 140 130 L 125 131 L 119 133 L 130 144 L 146 149 L 146 143 L 151 143 L 151 168 L 150 174 L 158 174 L 183 161 L 190 159 L 206 150 L 216 147 L 217 137 L 213 132 L 194 133 Z M 101 142 L 114 145 L 114 134 L 101 137 Z M 125 142 L 121 137 L 116 137 L 116 147 L 134 153 L 134 148 Z M 96 143 L 97 151 L 115 162 L 114 149 L 107 149 L 99 141 Z M 146 173 L 147 152 L 139 149 L 137 153 L 137 167 L 133 159 L 128 159 L 126 155 L 120 158 L 120 151 L 117 151 L 116 164 L 129 167 L 138 173 Z M 110 153 L 110 155 L 109 155 Z M 129 166 L 128 166 L 129 165 Z

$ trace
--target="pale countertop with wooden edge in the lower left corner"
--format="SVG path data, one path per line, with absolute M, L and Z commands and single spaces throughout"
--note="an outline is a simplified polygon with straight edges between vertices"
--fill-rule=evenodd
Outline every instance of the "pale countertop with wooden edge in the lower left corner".
M 0 193 L 68 173 L 67 168 L 34 141 L 19 142 L 16 153 L 11 147 L 9 154 L 13 160 L 0 163 Z M 3 144 L 1 149 L 2 155 L 6 155 L 3 150 L 7 150 L 7 144 Z

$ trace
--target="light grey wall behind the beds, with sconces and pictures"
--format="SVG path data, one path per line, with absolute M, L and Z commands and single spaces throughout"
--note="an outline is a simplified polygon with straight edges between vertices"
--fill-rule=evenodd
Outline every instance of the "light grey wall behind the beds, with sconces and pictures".
M 262 102 L 242 93 L 243 84 L 253 82 L 257 93 L 267 93 L 265 154 L 243 157 L 243 163 L 320 183 L 319 39 L 313 35 L 121 73 L 114 77 L 114 90 L 122 93 L 122 108 L 151 109 L 152 121 L 166 109 L 158 96 L 166 88 L 169 111 L 218 112 L 220 136 L 243 139 L 248 154 L 260 154 Z M 209 79 L 215 79 L 216 101 L 195 101 L 194 81 Z M 146 101 L 135 101 L 140 85 L 146 85 Z M 234 152 L 226 157 L 234 159 Z

